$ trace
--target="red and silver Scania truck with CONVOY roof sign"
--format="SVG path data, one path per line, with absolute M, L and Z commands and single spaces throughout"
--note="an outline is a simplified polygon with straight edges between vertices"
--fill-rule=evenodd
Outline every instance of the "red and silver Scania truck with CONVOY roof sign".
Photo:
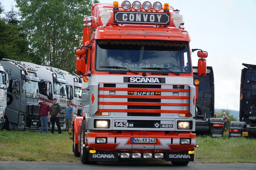
M 76 49 L 82 116 L 73 152 L 83 164 L 122 158 L 194 161 L 195 86 L 182 16 L 169 4 L 94 4 Z M 199 50 L 198 74 L 207 52 Z

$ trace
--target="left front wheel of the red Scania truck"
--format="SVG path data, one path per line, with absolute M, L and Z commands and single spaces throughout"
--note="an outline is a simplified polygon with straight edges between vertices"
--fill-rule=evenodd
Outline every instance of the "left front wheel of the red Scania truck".
M 83 164 L 97 164 L 97 161 L 89 161 L 89 152 L 86 149 L 86 147 L 82 146 L 83 144 L 85 144 L 84 132 L 86 132 L 86 129 L 85 129 L 85 121 L 83 120 L 82 121 L 81 136 L 80 136 L 81 162 Z

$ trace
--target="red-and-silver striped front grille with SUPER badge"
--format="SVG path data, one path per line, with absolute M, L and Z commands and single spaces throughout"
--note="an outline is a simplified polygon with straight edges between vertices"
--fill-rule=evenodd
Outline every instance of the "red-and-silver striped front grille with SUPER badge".
M 161 92 L 161 95 L 156 95 L 155 92 Z M 154 128 L 154 125 L 160 124 L 154 117 L 170 116 L 166 115 L 168 113 L 190 113 L 190 86 L 99 84 L 98 111 L 134 117 L 134 120 L 127 120 L 134 125 L 133 128 Z M 145 119 L 138 120 L 136 117 L 139 116 Z

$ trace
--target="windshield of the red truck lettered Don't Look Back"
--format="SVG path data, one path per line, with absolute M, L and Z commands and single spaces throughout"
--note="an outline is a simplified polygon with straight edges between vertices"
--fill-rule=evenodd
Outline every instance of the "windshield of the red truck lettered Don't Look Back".
M 98 71 L 191 72 L 186 41 L 100 39 L 96 50 Z

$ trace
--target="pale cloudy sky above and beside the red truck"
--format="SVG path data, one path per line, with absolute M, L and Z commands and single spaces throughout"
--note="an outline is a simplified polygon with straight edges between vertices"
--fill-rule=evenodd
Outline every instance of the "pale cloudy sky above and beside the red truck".
M 14 0 L 0 1 L 7 11 L 12 3 L 16 4 Z M 100 2 L 112 4 L 113 1 Z M 180 10 L 191 38 L 190 48 L 208 52 L 207 65 L 214 71 L 215 108 L 239 110 L 242 63 L 256 64 L 256 55 L 252 51 L 256 49 L 256 0 L 159 2 L 169 3 Z M 197 62 L 196 53 L 192 53 L 192 64 L 196 66 Z

